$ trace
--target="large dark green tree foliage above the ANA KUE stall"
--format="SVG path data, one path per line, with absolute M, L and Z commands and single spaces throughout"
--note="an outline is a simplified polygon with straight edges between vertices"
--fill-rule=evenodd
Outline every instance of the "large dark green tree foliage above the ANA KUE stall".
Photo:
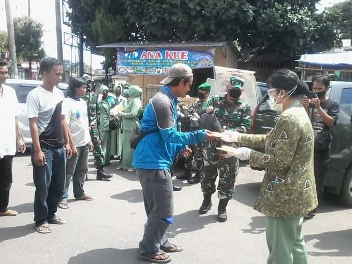
M 318 1 L 69 0 L 69 19 L 73 31 L 82 30 L 90 45 L 126 40 L 236 41 L 241 47 L 264 46 L 293 56 L 330 49 L 341 37 L 336 29 L 339 11 L 317 14 Z

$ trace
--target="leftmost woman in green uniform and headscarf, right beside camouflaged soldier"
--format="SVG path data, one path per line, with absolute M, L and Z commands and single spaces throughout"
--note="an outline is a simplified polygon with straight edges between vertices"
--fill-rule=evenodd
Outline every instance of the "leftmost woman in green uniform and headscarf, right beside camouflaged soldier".
M 109 129 L 110 109 L 111 105 L 108 101 L 109 88 L 105 85 L 100 87 L 102 99 L 98 101 L 98 108 L 100 112 L 100 137 L 102 141 L 102 151 L 104 154 L 104 165 L 110 164 L 110 144 L 111 144 L 111 131 Z

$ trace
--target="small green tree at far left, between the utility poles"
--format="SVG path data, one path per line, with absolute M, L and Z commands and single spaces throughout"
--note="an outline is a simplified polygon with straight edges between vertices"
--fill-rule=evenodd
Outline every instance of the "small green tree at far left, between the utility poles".
M 27 60 L 29 78 L 31 78 L 32 61 L 39 61 L 45 57 L 42 48 L 43 25 L 29 17 L 14 18 L 16 52 L 20 60 Z

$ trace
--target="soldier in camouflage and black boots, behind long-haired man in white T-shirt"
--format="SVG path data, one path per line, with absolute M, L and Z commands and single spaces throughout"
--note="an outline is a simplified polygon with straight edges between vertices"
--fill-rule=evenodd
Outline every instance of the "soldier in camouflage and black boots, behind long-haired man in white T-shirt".
M 89 122 L 89 132 L 90 132 L 90 137 L 94 145 L 94 161 L 96 162 L 97 165 L 97 180 L 102 180 L 102 179 L 110 179 L 112 176 L 109 174 L 106 174 L 104 171 L 104 154 L 101 148 L 101 139 L 100 139 L 100 134 L 98 130 L 98 124 L 97 124 L 97 116 L 98 116 L 98 108 L 97 108 L 97 95 L 95 92 L 92 91 L 92 83 L 88 82 L 87 83 L 87 93 L 83 99 L 87 103 L 87 108 L 88 108 L 88 122 Z M 86 177 L 87 178 L 87 177 Z

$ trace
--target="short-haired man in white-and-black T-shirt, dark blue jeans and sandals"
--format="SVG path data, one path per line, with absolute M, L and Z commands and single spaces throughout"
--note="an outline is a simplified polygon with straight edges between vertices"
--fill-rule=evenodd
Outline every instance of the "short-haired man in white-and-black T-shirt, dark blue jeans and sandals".
M 55 215 L 65 187 L 66 156 L 71 157 L 66 118 L 62 113 L 64 94 L 56 88 L 63 73 L 61 62 L 45 58 L 40 65 L 43 85 L 31 90 L 26 100 L 33 141 L 34 221 L 39 233 L 52 231 L 48 223 L 66 222 Z

